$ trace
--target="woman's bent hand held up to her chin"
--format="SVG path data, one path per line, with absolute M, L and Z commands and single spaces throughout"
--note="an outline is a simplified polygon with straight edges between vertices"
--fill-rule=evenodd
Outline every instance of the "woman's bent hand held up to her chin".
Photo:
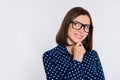
M 81 42 L 76 43 L 76 45 L 73 47 L 73 59 L 82 62 L 83 56 L 85 54 L 86 50 Z

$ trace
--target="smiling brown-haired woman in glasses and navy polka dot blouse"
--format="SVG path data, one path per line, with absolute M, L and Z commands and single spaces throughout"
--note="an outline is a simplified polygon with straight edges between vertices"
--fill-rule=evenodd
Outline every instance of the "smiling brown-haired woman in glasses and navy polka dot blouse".
M 57 33 L 58 45 L 43 54 L 47 80 L 105 80 L 92 37 L 89 12 L 82 7 L 70 9 Z

